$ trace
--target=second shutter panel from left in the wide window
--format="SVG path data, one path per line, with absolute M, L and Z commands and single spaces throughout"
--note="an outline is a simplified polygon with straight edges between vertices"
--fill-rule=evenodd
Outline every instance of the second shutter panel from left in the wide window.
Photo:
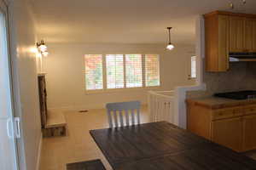
M 106 55 L 107 88 L 124 88 L 123 54 Z

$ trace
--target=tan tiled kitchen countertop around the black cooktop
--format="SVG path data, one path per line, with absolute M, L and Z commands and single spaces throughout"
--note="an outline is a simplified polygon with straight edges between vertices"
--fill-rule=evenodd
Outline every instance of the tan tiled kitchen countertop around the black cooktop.
M 186 99 L 186 102 L 194 105 L 205 106 L 210 109 L 221 109 L 225 107 L 234 107 L 240 105 L 256 105 L 256 99 L 225 99 L 218 97 L 203 97 L 195 99 Z

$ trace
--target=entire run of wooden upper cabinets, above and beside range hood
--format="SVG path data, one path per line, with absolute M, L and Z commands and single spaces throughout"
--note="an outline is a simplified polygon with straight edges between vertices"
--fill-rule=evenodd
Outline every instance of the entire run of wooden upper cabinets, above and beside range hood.
M 256 52 L 256 14 L 205 14 L 206 70 L 229 70 L 229 54 Z

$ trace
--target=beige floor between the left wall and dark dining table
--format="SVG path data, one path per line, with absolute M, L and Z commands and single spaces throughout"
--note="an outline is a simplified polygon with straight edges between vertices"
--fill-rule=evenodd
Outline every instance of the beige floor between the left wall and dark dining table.
M 101 159 L 107 170 L 112 170 L 108 161 L 90 137 L 89 130 L 108 127 L 105 110 L 65 111 L 67 137 L 43 139 L 40 170 L 66 170 L 66 164 L 78 161 Z M 142 122 L 148 122 L 147 107 L 141 111 Z

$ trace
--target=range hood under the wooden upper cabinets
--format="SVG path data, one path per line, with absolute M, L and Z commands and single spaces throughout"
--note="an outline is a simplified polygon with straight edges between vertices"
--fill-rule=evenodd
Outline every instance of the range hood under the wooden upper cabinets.
M 230 53 L 230 62 L 256 61 L 256 53 Z

